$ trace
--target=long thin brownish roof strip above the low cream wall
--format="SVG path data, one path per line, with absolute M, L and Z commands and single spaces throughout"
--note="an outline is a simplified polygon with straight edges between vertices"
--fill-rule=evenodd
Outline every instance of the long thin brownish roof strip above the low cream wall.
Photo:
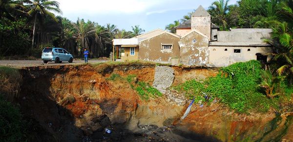
M 212 41 L 209 42 L 209 46 L 272 46 L 271 44 L 265 42 L 218 42 Z

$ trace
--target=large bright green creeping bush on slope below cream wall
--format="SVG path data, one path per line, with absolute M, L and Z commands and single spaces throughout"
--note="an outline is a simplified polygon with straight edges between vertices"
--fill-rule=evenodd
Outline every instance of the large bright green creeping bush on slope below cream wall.
M 260 82 L 260 62 L 247 61 L 223 67 L 216 77 L 211 77 L 203 83 L 191 80 L 173 88 L 185 92 L 189 98 L 195 97 L 196 101 L 213 101 L 217 98 L 239 113 L 252 108 L 266 112 L 274 104 L 259 92 Z

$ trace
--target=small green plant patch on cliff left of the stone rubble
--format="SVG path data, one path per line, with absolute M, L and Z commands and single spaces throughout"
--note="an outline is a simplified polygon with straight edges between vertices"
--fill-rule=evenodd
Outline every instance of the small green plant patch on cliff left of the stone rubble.
M 137 93 L 141 96 L 143 100 L 148 100 L 149 97 L 158 98 L 162 97 L 163 94 L 157 90 L 156 88 L 152 87 L 146 82 L 139 81 L 136 87 Z

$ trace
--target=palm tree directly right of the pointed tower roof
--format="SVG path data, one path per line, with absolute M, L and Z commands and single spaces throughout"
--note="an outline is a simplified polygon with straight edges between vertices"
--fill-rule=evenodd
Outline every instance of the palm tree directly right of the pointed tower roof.
M 229 12 L 228 5 L 229 0 L 218 0 L 214 1 L 211 6 L 209 6 L 209 14 L 212 17 L 212 22 L 219 25 L 221 30 L 228 30 L 228 17 Z

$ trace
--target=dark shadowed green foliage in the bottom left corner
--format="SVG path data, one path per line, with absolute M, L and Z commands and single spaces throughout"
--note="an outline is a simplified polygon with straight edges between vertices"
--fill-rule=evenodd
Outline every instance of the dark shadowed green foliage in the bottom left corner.
M 0 95 L 0 138 L 1 142 L 21 142 L 23 140 L 22 118 L 19 109 Z

